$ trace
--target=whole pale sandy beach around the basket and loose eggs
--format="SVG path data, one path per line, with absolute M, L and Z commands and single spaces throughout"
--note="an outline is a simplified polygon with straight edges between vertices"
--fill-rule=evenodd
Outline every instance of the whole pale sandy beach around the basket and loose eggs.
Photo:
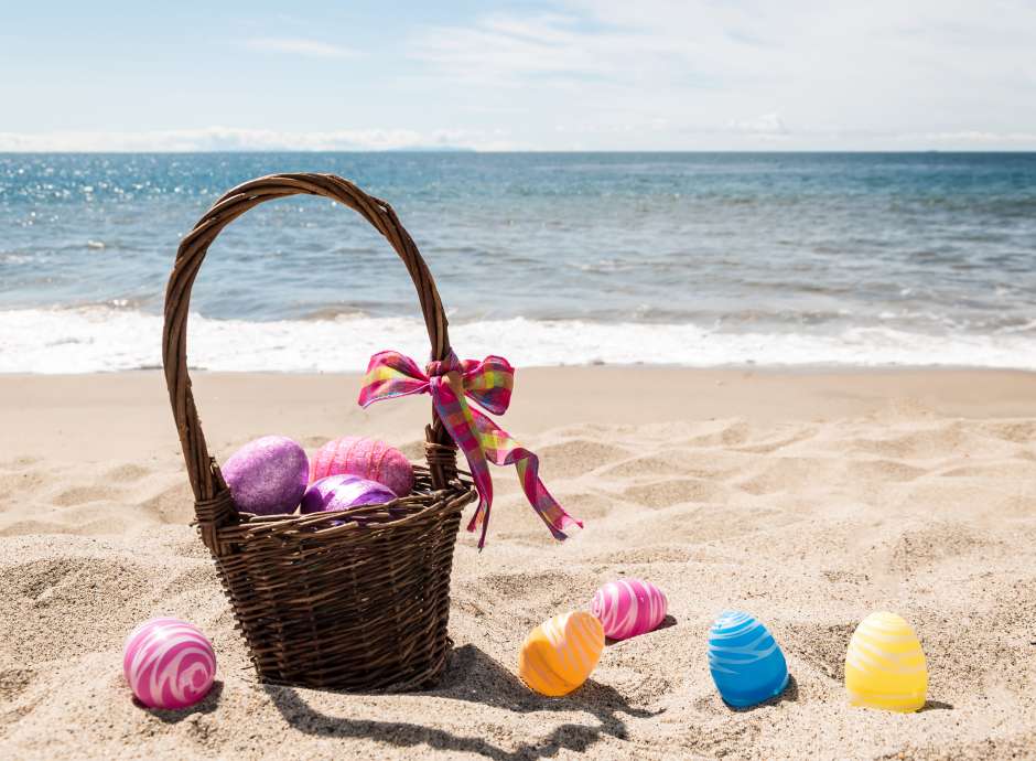
M 354 405 L 355 376 L 195 378 L 223 458 L 378 433 L 417 454 L 427 399 Z M 1036 758 L 1036 376 L 1002 372 L 522 371 L 505 427 L 586 529 L 554 543 L 494 469 L 479 554 L 461 536 L 441 685 L 356 696 L 257 683 L 192 501 L 158 373 L 0 377 L 0 758 Z M 651 579 L 671 618 L 547 699 L 515 676 L 541 620 Z M 732 710 L 706 668 L 727 607 L 792 674 Z M 914 715 L 852 708 L 842 660 L 874 610 L 916 628 Z M 121 677 L 139 621 L 201 625 L 218 682 L 144 710 Z

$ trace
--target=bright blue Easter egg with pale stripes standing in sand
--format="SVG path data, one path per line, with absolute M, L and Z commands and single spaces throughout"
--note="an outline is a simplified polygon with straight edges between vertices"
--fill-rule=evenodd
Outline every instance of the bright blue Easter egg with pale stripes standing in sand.
M 709 630 L 709 671 L 720 696 L 743 708 L 780 695 L 788 686 L 788 664 L 762 621 L 726 610 Z

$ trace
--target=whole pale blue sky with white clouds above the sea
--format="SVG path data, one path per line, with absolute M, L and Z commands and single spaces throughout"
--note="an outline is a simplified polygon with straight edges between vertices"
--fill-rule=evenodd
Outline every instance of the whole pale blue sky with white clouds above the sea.
M 0 0 L 0 151 L 1036 150 L 1036 0 Z

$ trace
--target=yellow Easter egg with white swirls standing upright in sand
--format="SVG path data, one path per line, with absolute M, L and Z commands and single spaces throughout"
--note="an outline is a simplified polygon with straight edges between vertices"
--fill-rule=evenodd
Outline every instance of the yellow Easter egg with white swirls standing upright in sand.
M 861 621 L 845 653 L 845 689 L 854 706 L 904 712 L 924 706 L 928 666 L 910 624 L 886 612 Z

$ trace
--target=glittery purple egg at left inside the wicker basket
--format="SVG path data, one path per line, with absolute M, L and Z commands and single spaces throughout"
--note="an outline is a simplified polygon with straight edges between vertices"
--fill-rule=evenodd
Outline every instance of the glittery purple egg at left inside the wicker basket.
M 245 513 L 293 513 L 309 482 L 302 447 L 283 436 L 249 441 L 223 465 L 234 504 Z

